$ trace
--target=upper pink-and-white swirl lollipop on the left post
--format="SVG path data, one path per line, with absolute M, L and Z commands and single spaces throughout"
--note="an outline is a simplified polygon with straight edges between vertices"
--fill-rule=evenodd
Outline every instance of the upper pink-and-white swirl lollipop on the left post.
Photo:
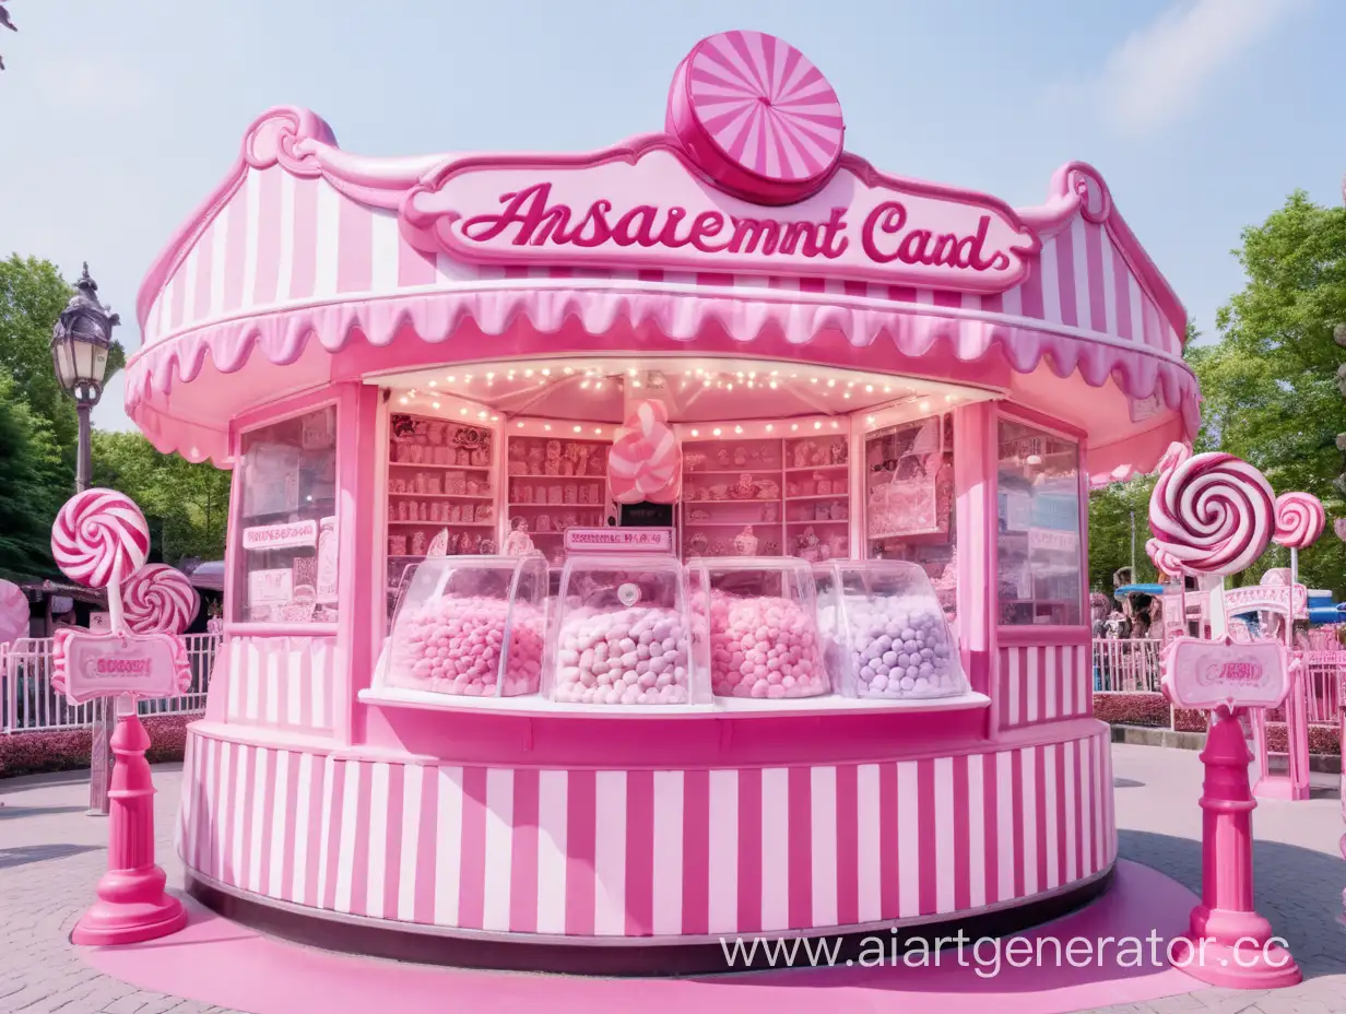
M 145 563 L 149 527 L 131 497 L 110 489 L 75 493 L 51 525 L 51 555 L 70 580 L 121 584 Z

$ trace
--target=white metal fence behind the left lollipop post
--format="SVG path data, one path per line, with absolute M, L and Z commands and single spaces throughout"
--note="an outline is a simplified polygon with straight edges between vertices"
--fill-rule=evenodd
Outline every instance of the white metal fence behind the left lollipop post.
M 191 689 L 176 698 L 141 700 L 141 715 L 205 711 L 206 688 L 219 634 L 187 634 Z M 98 702 L 70 704 L 51 685 L 51 638 L 20 638 L 0 645 L 0 734 L 81 729 L 93 724 Z

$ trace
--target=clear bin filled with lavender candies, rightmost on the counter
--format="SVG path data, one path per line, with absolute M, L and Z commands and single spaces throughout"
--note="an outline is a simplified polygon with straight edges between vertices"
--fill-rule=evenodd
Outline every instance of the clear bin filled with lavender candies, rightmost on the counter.
M 966 692 L 958 645 L 921 567 L 836 560 L 814 576 L 828 672 L 844 696 L 917 700 Z

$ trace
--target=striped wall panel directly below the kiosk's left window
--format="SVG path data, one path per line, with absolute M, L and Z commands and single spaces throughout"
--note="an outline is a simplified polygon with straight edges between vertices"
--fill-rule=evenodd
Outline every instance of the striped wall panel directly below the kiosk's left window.
M 226 642 L 225 720 L 232 724 L 332 731 L 336 636 L 233 636 Z

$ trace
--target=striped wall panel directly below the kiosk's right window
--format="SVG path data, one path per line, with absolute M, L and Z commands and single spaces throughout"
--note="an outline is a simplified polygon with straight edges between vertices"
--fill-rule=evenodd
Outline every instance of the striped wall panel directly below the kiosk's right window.
M 1000 729 L 1092 715 L 1089 645 L 1001 645 L 997 692 Z

